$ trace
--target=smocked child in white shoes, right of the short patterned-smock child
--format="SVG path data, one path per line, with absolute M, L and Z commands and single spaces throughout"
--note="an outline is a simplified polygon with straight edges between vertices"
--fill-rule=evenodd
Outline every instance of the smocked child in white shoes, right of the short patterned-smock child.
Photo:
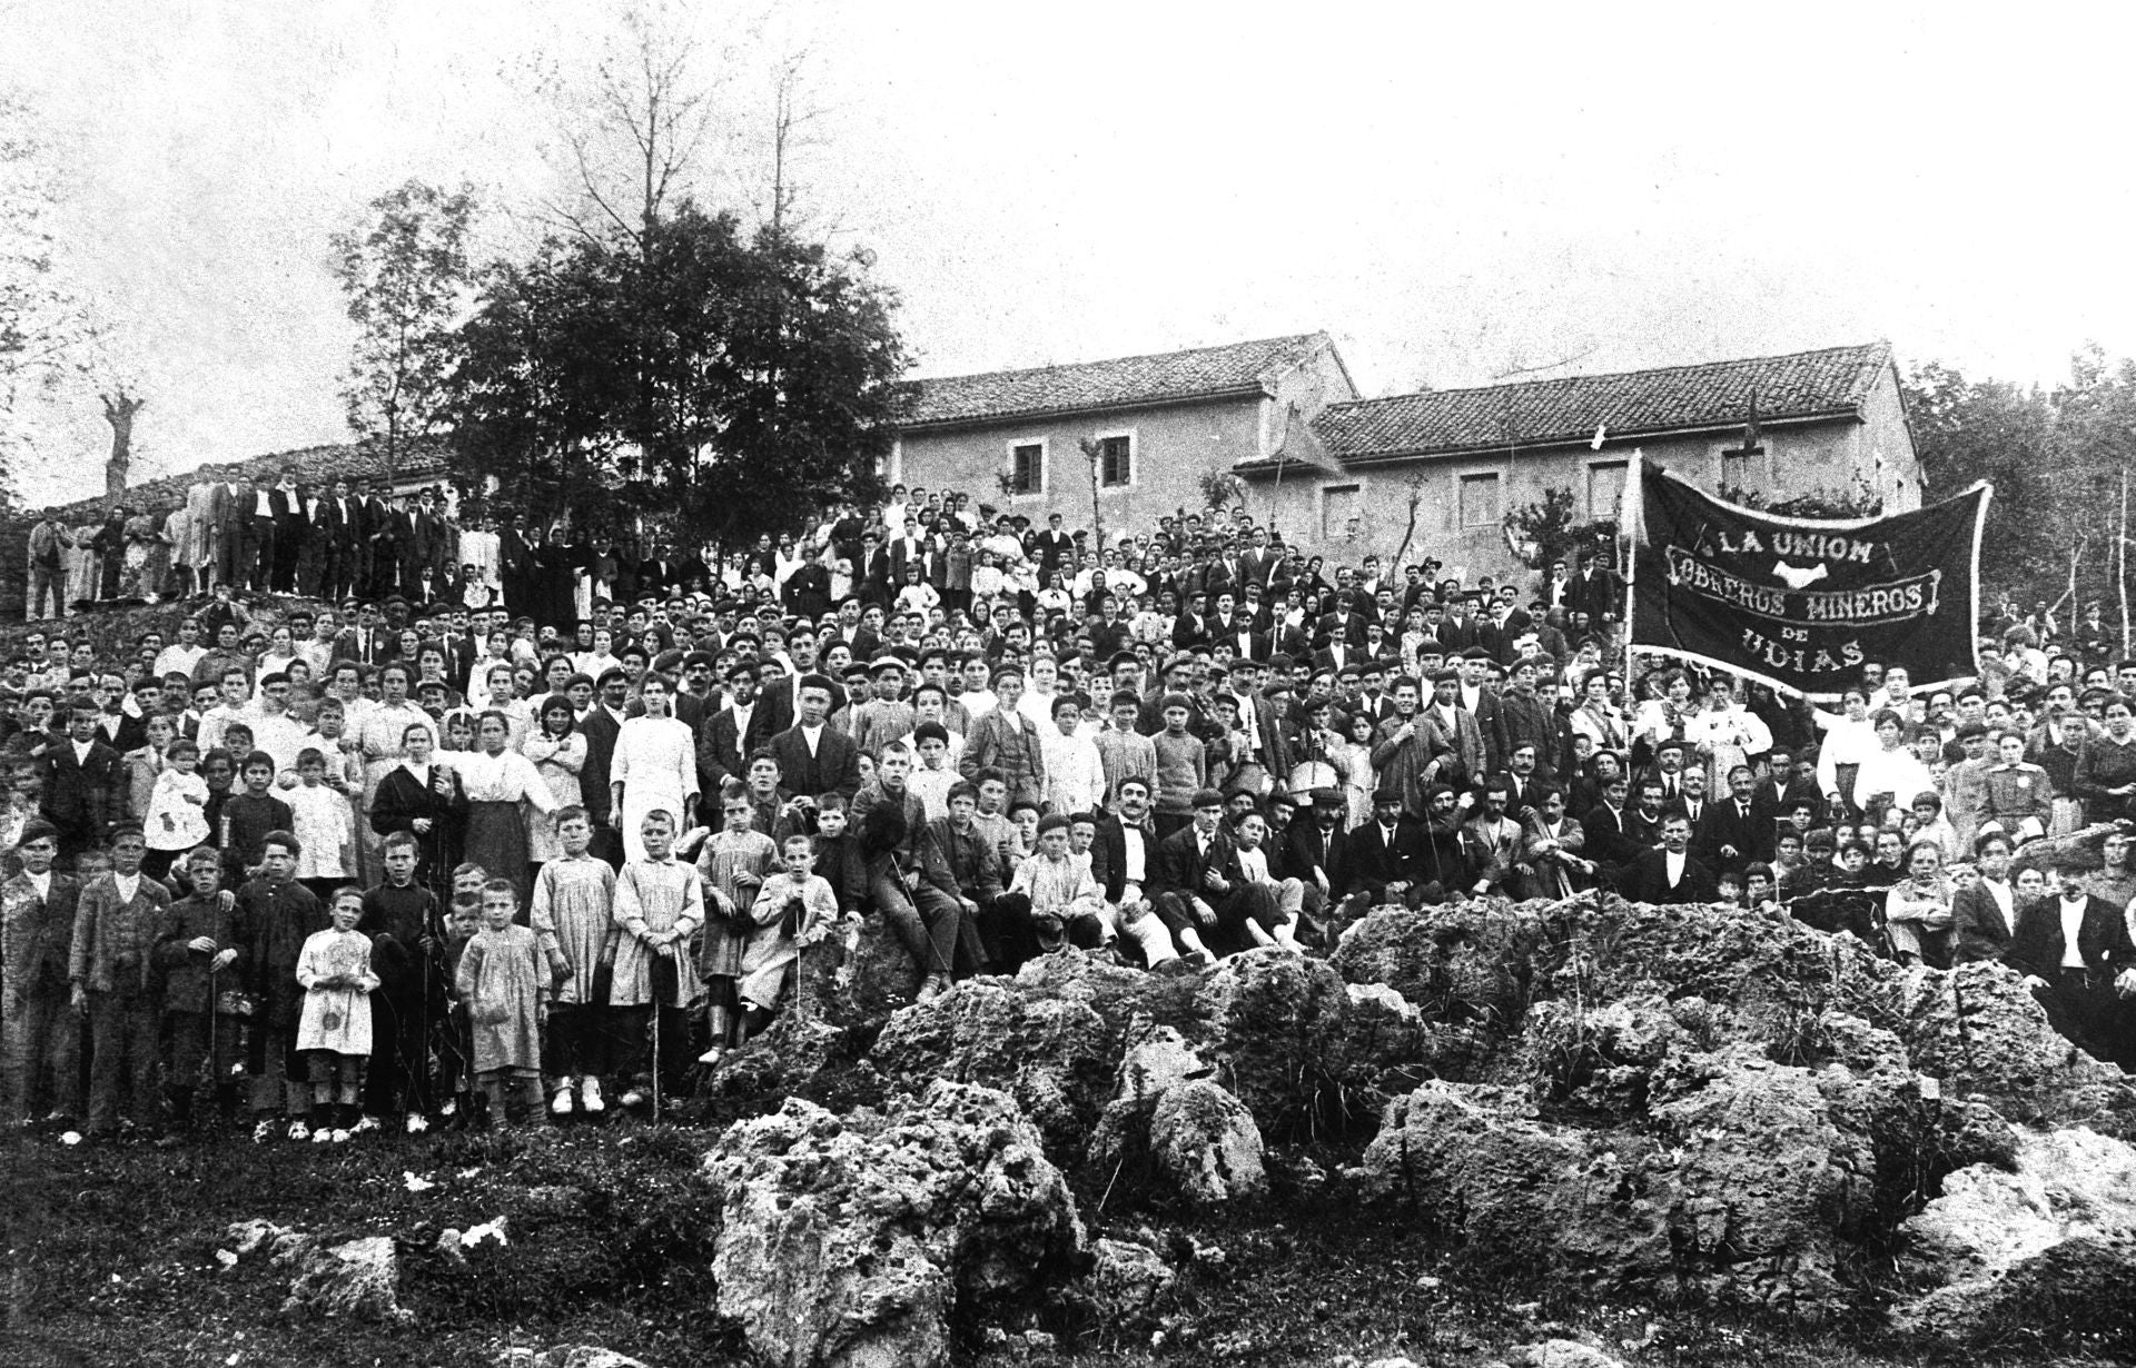
M 602 1001 L 609 975 L 602 967 L 609 973 L 615 967 L 615 871 L 590 854 L 594 824 L 583 807 L 555 815 L 555 839 L 564 854 L 540 866 L 532 909 L 534 937 L 557 984 L 543 1059 L 549 1112 L 598 1116 L 609 1110 L 600 1097 L 600 1076 L 609 1069 L 609 1003 Z

